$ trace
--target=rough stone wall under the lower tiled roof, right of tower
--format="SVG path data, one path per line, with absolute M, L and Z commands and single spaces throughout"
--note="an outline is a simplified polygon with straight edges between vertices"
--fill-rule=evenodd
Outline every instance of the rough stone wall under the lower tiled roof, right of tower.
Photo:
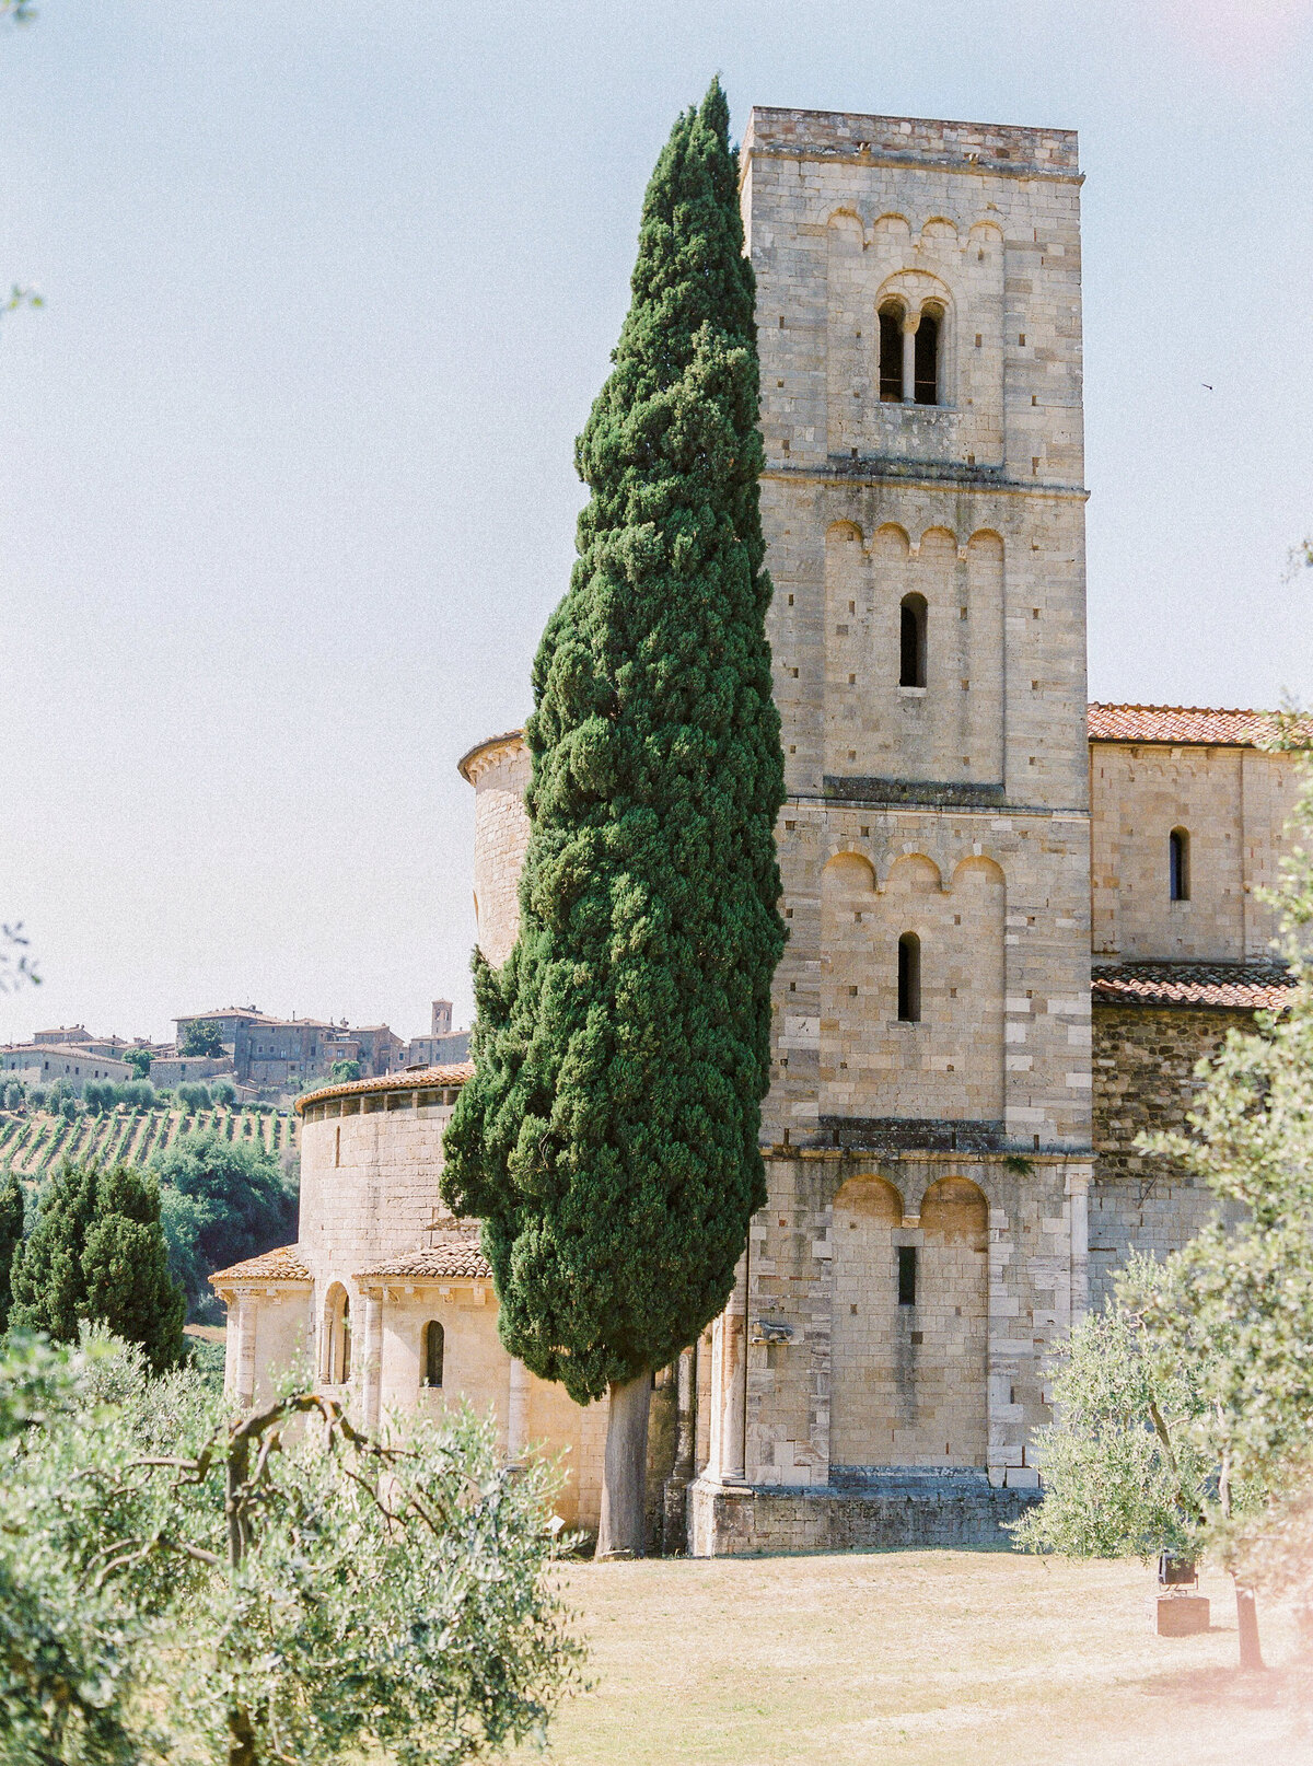
M 1195 1063 L 1249 1014 L 1188 1007 L 1094 1010 L 1094 1183 L 1090 1185 L 1090 1305 L 1112 1294 L 1131 1250 L 1179 1250 L 1214 1213 L 1212 1194 L 1135 1151 L 1135 1137 L 1184 1128 L 1198 1090 Z

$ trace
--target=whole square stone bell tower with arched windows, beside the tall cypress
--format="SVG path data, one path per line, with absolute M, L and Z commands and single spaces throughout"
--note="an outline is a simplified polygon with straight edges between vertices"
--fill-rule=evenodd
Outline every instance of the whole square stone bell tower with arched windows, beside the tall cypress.
M 790 943 L 694 1551 L 1036 1485 L 1090 1171 L 1080 184 L 1057 129 L 744 138 Z

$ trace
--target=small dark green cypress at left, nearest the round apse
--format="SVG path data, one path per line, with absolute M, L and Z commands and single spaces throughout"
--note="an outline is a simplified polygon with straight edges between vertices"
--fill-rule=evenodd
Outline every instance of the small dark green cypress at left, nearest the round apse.
M 101 1178 L 81 1270 L 88 1317 L 140 1342 L 157 1374 L 182 1360 L 187 1296 L 168 1272 L 152 1173 L 118 1166 Z

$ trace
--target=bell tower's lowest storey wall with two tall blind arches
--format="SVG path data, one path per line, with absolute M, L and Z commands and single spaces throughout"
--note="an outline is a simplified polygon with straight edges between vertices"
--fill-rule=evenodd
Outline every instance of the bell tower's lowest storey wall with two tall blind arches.
M 749 1238 L 749 1483 L 903 1464 L 1034 1487 L 1046 1358 L 1083 1300 L 1087 1176 L 1053 1157 L 776 1148 Z M 908 1309 L 899 1245 L 921 1252 Z

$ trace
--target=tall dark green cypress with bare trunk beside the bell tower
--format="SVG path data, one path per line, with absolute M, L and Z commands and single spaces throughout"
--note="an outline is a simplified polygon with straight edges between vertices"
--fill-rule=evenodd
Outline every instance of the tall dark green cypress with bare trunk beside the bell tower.
M 765 1203 L 783 756 L 753 297 L 714 81 L 649 184 L 576 443 L 592 496 L 534 664 L 520 938 L 500 971 L 475 954 L 447 1130 L 505 1347 L 576 1402 L 610 1392 L 599 1554 L 643 1549 L 650 1372 L 721 1312 Z

